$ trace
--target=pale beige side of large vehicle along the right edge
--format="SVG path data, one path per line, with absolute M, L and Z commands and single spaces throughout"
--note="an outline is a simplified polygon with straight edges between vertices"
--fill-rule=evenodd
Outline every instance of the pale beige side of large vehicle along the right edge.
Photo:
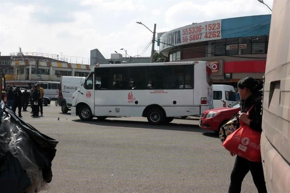
M 274 0 L 266 62 L 261 155 L 268 193 L 290 192 L 290 0 Z

